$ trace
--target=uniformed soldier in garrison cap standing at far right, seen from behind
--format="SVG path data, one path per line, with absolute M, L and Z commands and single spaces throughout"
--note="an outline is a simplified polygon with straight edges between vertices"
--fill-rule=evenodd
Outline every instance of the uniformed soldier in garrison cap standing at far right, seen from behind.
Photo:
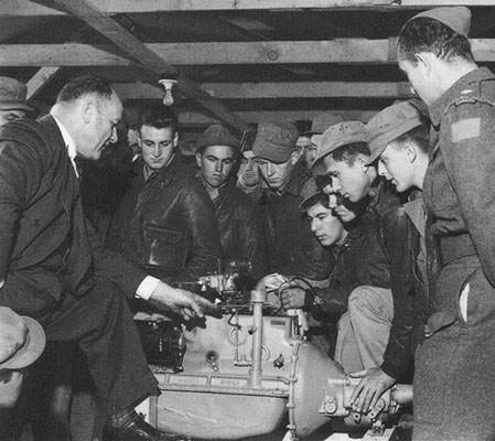
M 495 439 L 495 77 L 474 62 L 467 8 L 413 17 L 397 60 L 433 126 L 423 183 L 440 271 L 416 354 L 415 440 Z

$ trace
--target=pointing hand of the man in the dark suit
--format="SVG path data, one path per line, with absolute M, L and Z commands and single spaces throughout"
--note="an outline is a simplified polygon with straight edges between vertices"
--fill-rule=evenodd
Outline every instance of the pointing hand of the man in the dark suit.
M 181 288 L 173 288 L 160 281 L 150 301 L 157 302 L 168 311 L 182 315 L 184 320 L 203 318 L 205 312 L 218 314 L 218 308 L 211 301 Z

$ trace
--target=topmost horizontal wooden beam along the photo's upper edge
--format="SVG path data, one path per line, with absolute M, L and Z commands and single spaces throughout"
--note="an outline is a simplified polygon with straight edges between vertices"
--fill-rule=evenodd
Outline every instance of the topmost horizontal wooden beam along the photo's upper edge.
M 240 10 L 299 10 L 299 9 L 421 9 L 440 6 L 459 6 L 455 0 L 92 0 L 107 14 L 172 12 L 172 11 L 240 11 Z M 493 0 L 464 0 L 466 7 L 492 7 Z M 0 17 L 12 15 L 65 15 L 57 7 L 39 4 L 31 0 L 1 0 Z

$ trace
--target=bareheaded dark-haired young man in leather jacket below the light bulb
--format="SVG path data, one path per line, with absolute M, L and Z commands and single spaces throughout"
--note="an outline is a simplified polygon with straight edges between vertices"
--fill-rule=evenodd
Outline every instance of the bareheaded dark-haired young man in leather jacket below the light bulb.
M 150 106 L 139 118 L 142 159 L 110 230 L 110 247 L 149 273 L 194 282 L 222 258 L 214 208 L 194 173 L 181 163 L 176 117 Z

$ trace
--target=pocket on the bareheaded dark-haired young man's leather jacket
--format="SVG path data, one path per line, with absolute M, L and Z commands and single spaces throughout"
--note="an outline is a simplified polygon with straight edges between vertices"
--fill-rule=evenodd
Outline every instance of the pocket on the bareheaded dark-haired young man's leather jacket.
M 177 271 L 185 266 L 190 249 L 187 234 L 157 225 L 144 226 L 149 256 L 148 263 Z

